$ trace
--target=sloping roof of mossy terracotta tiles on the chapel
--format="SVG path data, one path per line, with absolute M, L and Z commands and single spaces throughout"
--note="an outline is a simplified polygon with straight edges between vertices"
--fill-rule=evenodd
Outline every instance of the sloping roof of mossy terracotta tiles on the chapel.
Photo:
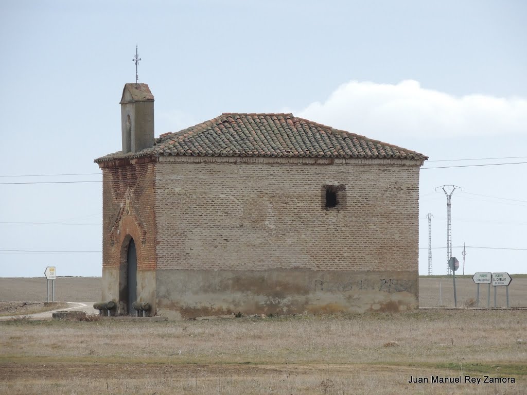
M 134 156 L 145 155 L 427 159 L 292 114 L 238 113 L 223 113 L 180 132 L 164 133 L 153 147 Z M 97 161 L 106 158 L 111 159 Z

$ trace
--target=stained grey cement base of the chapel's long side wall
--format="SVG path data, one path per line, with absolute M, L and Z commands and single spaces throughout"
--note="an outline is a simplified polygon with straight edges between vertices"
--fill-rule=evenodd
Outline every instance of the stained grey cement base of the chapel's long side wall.
M 205 315 L 402 311 L 418 307 L 415 272 L 157 270 L 157 313 Z

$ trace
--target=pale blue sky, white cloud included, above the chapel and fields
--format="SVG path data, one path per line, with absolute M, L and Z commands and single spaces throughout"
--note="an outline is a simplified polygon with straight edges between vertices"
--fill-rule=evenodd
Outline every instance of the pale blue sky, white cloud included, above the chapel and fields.
M 292 112 L 424 153 L 419 274 L 429 212 L 433 274 L 446 274 L 445 184 L 463 188 L 457 273 L 464 243 L 466 274 L 526 273 L 526 17 L 522 0 L 3 0 L 0 276 L 101 275 L 93 160 L 121 149 L 136 45 L 156 135 L 223 112 Z M 59 181 L 94 182 L 42 184 Z

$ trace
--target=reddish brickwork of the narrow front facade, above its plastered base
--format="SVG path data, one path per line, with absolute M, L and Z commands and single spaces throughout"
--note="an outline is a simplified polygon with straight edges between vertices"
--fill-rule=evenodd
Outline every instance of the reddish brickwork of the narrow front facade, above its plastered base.
M 155 269 L 154 163 L 103 165 L 103 268 L 126 265 L 135 241 L 138 270 Z

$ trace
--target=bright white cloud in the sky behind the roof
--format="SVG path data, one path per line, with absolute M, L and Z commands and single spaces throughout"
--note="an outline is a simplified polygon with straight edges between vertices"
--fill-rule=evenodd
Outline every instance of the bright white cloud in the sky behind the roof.
M 338 129 L 391 141 L 394 136 L 484 136 L 527 132 L 527 98 L 453 96 L 417 81 L 396 85 L 352 81 L 324 102 L 295 115 Z

